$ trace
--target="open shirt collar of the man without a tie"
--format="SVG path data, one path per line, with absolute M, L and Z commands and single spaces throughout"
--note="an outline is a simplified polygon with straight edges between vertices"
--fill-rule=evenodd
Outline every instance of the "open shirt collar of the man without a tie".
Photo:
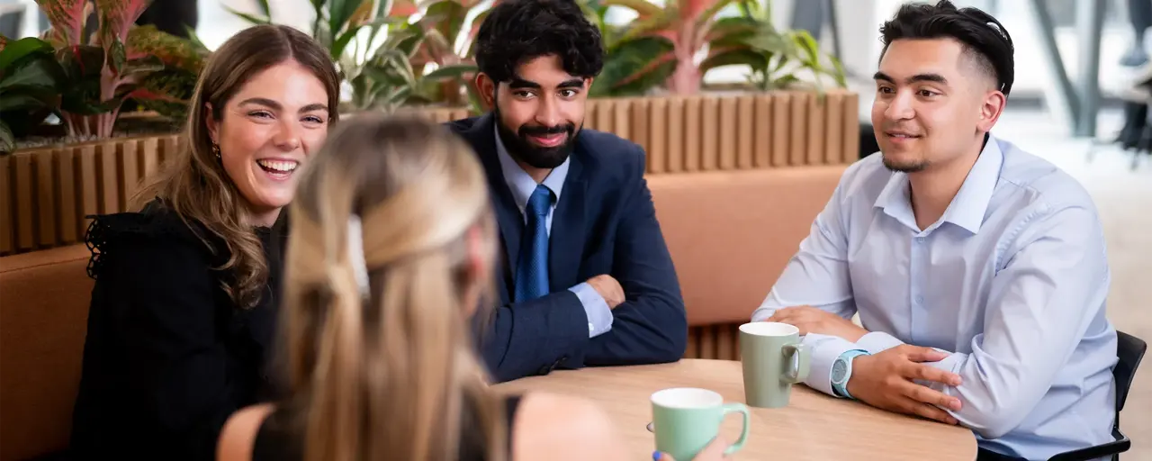
M 986 139 L 980 157 L 976 159 L 976 164 L 964 177 L 960 191 L 953 197 L 948 209 L 940 218 L 940 221 L 952 222 L 972 234 L 979 233 L 980 225 L 984 224 L 984 213 L 987 211 L 992 194 L 1000 181 L 1000 167 L 1003 165 L 1003 151 L 1000 149 L 999 141 L 991 135 Z M 884 209 L 885 213 L 915 229 L 918 226 L 916 226 L 909 191 L 908 174 L 893 173 L 877 197 L 874 206 Z

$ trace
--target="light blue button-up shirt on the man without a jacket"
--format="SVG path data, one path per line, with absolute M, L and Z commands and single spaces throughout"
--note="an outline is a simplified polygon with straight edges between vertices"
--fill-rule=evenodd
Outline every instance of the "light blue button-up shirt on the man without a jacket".
M 908 175 L 880 154 L 851 165 L 752 313 L 790 305 L 851 318 L 856 343 L 808 334 L 805 384 L 834 394 L 833 361 L 910 343 L 952 355 L 932 365 L 960 386 L 950 411 L 980 447 L 1030 460 L 1112 440 L 1116 333 L 1105 318 L 1109 273 L 1089 194 L 1071 176 L 988 137 L 943 216 L 916 225 Z M 922 383 L 929 384 L 929 383 Z

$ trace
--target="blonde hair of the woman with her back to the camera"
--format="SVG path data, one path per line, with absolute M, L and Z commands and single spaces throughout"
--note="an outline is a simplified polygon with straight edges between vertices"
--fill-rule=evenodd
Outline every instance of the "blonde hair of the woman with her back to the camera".
M 282 318 L 304 460 L 455 460 L 462 437 L 503 460 L 502 400 L 468 327 L 467 303 L 490 304 L 491 289 L 465 236 L 483 235 L 483 267 L 495 255 L 468 145 L 424 121 L 357 115 L 308 166 L 291 217 Z

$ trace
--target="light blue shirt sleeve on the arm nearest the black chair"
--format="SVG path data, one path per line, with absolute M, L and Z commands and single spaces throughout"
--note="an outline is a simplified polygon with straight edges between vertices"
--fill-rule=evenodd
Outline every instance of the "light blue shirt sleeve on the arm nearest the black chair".
M 1096 213 L 1064 207 L 1033 220 L 995 275 L 984 332 L 971 354 L 950 353 L 932 366 L 960 375 L 960 386 L 920 383 L 961 401 L 945 408 L 994 439 L 1015 429 L 1052 386 L 1108 290 L 1104 234 Z M 872 354 L 902 345 L 872 332 L 857 342 Z

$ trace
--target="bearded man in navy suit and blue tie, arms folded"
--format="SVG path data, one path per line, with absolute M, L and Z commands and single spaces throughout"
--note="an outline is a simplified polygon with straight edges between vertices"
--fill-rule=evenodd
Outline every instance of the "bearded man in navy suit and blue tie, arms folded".
M 449 127 L 479 156 L 500 226 L 500 308 L 477 325 L 495 379 L 679 360 L 688 320 L 644 151 L 583 128 L 599 30 L 571 0 L 501 1 L 476 62 L 493 109 Z

